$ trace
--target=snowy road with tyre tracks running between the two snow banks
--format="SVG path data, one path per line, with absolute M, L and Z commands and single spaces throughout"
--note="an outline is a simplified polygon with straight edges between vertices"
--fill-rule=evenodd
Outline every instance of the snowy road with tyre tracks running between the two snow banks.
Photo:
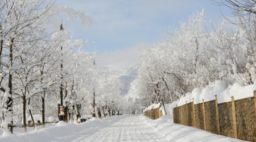
M 139 116 L 123 118 L 111 126 L 89 137 L 80 137 L 74 141 L 159 141 L 152 127 L 146 126 Z

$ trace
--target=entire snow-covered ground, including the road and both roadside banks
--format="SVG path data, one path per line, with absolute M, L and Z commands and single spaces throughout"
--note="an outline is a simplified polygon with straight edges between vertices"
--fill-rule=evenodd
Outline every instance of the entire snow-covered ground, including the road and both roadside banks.
M 0 136 L 0 141 L 240 141 L 171 122 L 168 115 L 157 120 L 143 115 L 93 118 L 81 124 L 48 124 L 26 134 L 15 128 L 14 135 Z

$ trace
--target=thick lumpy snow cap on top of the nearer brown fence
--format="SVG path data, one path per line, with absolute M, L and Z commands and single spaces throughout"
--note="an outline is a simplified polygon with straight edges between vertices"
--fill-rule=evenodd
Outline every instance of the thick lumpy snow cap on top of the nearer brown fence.
M 193 100 L 194 104 L 203 103 L 203 99 L 204 102 L 213 101 L 215 95 L 217 95 L 218 103 L 230 102 L 231 97 L 234 97 L 234 100 L 253 97 L 254 90 L 256 90 L 256 80 L 251 85 L 241 86 L 239 83 L 234 83 L 228 87 L 226 87 L 225 82 L 216 81 L 213 85 L 208 85 L 202 90 L 195 88 L 192 93 L 182 95 L 179 100 L 173 103 L 173 106 L 179 107 L 191 103 Z

